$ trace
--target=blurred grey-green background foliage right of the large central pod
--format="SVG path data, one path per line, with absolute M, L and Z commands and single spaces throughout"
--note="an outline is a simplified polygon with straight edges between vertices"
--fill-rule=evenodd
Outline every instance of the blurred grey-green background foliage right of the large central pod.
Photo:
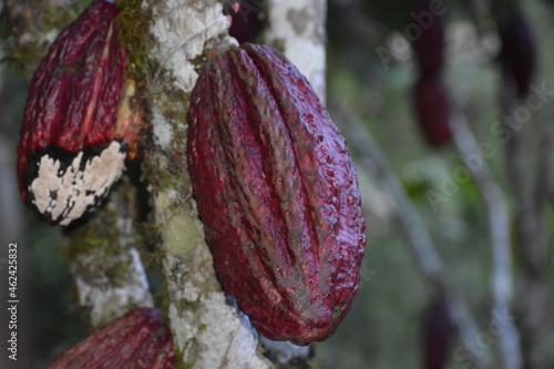
M 537 51 L 533 83 L 552 86 L 554 49 L 547 34 L 552 32 L 554 9 L 545 1 L 521 3 Z M 513 209 L 503 143 L 492 131 L 493 124 L 502 116 L 499 103 L 503 83 L 497 60 L 502 45 L 496 24 L 486 1 L 444 1 L 444 4 L 447 28 L 442 79 L 449 101 L 464 112 L 478 142 L 493 145 L 494 154 L 488 162 L 494 177 L 509 194 Z M 414 22 L 409 13 L 410 1 L 329 1 L 328 100 L 331 115 L 332 102 L 340 99 L 348 101 L 352 111 L 362 117 L 431 232 L 451 281 L 461 288 L 479 328 L 486 332 L 492 303 L 485 206 L 473 181 L 453 178 L 455 170 L 463 164 L 452 145 L 431 147 L 421 133 L 413 112 L 418 66 L 412 50 L 399 47 L 408 43 L 401 39 L 401 33 L 407 24 Z M 379 48 L 400 52 L 383 63 L 377 52 Z M 544 134 L 534 125 L 553 124 L 553 113 L 552 101 L 548 101 L 521 130 L 529 177 L 536 174 L 538 144 Z M 341 122 L 337 123 L 340 126 Z M 424 348 L 437 290 L 423 279 L 406 234 L 394 218 L 386 188 L 379 188 L 369 174 L 360 166 L 358 168 L 368 222 L 363 270 L 370 277 L 361 285 L 352 311 L 337 334 L 318 345 L 317 361 L 321 368 L 431 368 L 424 365 Z M 427 195 L 429 191 L 441 193 L 441 186 L 449 180 L 455 183 L 455 189 L 433 211 Z M 552 198 L 550 202 L 552 205 Z M 512 222 L 515 222 L 513 216 Z M 546 222 L 551 249 L 546 279 L 552 281 L 552 206 Z M 515 225 L 513 228 L 515 234 Z M 521 265 L 515 250 L 514 257 L 517 271 Z M 516 288 L 521 291 L 521 286 Z M 521 298 L 517 291 L 515 299 Z M 545 309 L 552 311 L 552 288 L 548 293 Z M 517 324 L 517 311 L 514 315 Z M 552 314 L 545 324 L 544 330 L 550 332 L 541 338 L 541 352 L 545 357 L 537 368 L 554 365 L 553 352 L 548 350 L 554 345 Z M 448 368 L 475 367 L 469 359 L 454 353 L 463 342 L 452 328 L 450 337 L 444 365 Z M 491 342 L 484 342 L 481 350 L 490 348 Z M 440 345 L 437 349 L 440 350 Z M 499 361 L 493 368 L 500 368 Z

